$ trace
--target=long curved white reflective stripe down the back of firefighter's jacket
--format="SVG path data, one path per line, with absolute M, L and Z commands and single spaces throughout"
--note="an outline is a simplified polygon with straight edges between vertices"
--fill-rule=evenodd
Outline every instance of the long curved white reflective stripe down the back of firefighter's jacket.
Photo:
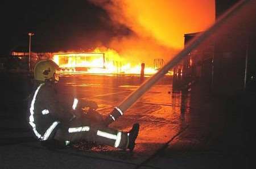
M 40 88 L 41 88 L 43 85 L 44 85 L 44 83 L 40 84 L 40 85 L 38 86 L 38 88 L 36 88 L 35 94 L 34 94 L 34 96 L 33 96 L 33 99 L 32 99 L 31 105 L 30 105 L 30 122 L 29 122 L 29 124 L 30 124 L 30 125 L 32 126 L 32 128 L 33 128 L 33 131 L 34 131 L 36 137 L 38 137 L 38 138 L 40 138 L 40 139 L 42 139 L 42 136 L 41 136 L 41 134 L 39 134 L 38 131 L 36 130 L 36 125 L 35 125 L 35 123 L 34 123 L 34 120 L 35 120 L 35 119 L 34 119 L 34 109 L 35 109 L 34 105 L 35 105 L 36 95 L 38 95 L 38 91 L 40 90 Z

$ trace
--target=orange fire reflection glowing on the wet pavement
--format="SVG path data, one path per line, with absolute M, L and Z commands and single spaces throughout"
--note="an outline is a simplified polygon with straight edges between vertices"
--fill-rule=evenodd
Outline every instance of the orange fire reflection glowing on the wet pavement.
M 61 77 L 59 86 L 69 88 L 65 90 L 66 94 L 72 95 L 72 91 L 76 91 L 81 98 L 94 100 L 99 105 L 98 112 L 107 115 L 115 105 L 136 90 L 140 83 L 139 77 L 79 75 Z M 164 77 L 138 99 L 123 117 L 110 125 L 129 130 L 135 122 L 141 124 L 135 153 L 145 156 L 153 154 L 187 127 L 185 113 L 190 110 L 190 94 L 188 91 L 170 92 L 171 84 L 171 77 Z M 104 151 L 106 152 L 105 148 Z

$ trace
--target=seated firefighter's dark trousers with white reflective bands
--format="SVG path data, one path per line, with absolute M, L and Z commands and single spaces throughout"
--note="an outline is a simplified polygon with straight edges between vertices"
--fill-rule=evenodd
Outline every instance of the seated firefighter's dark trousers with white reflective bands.
M 109 145 L 127 149 L 128 133 L 108 128 L 100 124 L 87 124 L 82 119 L 73 119 L 69 124 L 61 124 L 56 130 L 55 140 L 64 142 L 95 141 L 98 145 Z

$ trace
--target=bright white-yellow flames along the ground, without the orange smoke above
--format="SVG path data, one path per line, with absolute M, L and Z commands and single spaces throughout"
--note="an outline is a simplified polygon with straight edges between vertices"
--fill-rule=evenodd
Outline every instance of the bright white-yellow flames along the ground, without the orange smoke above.
M 59 53 L 53 61 L 60 66 L 59 73 L 90 74 L 141 74 L 141 63 L 132 64 L 120 57 L 115 50 L 101 52 L 96 48 L 92 53 Z M 144 74 L 156 73 L 154 67 L 144 67 Z

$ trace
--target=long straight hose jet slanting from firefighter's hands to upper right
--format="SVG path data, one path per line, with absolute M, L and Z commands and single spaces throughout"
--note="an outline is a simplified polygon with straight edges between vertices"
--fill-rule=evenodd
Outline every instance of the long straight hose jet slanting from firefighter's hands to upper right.
M 105 124 L 108 126 L 113 121 L 117 120 L 123 113 L 131 107 L 147 90 L 149 90 L 156 82 L 159 81 L 170 69 L 172 69 L 176 64 L 178 64 L 184 57 L 186 57 L 193 49 L 199 47 L 204 41 L 208 39 L 217 29 L 222 26 L 231 16 L 236 14 L 238 10 L 241 10 L 243 6 L 250 1 L 240 1 L 236 5 L 234 5 L 228 12 L 221 16 L 220 19 L 217 20 L 215 24 L 213 24 L 207 31 L 204 31 L 196 39 L 193 39 L 191 43 L 187 45 L 187 47 L 178 54 L 172 60 L 168 61 L 166 65 L 164 65 L 156 74 L 152 75 L 152 77 L 148 78 L 147 81 L 141 84 L 137 90 L 133 91 L 125 100 L 123 100 L 119 105 L 114 107 L 113 111 L 109 113 L 106 117 Z

